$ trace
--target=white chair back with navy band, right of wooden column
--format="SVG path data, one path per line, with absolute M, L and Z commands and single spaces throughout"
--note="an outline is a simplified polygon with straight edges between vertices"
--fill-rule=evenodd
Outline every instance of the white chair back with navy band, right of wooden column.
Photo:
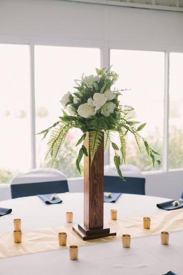
M 145 195 L 145 178 L 134 165 L 121 166 L 126 181 L 119 178 L 116 167 L 104 166 L 104 192 Z

